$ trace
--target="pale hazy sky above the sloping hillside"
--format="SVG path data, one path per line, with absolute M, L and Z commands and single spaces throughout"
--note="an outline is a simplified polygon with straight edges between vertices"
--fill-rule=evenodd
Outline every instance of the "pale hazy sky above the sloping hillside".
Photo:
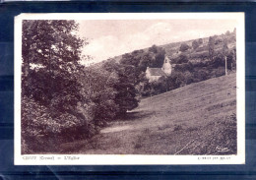
M 234 20 L 80 20 L 78 34 L 87 38 L 84 55 L 100 62 L 108 58 L 143 49 L 232 31 Z

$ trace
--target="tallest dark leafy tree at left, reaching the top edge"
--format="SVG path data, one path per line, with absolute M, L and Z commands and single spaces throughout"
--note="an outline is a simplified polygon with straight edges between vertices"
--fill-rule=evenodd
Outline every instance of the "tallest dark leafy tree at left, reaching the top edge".
M 23 22 L 24 95 L 61 111 L 76 106 L 81 99 L 76 76 L 84 45 L 76 30 L 75 21 Z

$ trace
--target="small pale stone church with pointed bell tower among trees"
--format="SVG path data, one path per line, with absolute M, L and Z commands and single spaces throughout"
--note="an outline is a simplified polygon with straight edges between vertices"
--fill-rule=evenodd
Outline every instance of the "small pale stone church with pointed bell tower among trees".
M 146 78 L 149 82 L 155 82 L 160 79 L 160 77 L 166 77 L 171 75 L 171 64 L 169 58 L 165 55 L 163 64 L 161 68 L 149 68 L 146 70 Z

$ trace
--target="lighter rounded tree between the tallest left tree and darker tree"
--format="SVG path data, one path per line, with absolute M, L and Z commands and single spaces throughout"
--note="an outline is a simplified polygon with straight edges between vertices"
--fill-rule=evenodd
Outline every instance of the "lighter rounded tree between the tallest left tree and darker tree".
M 80 78 L 84 98 L 81 101 L 81 111 L 88 116 L 91 111 L 91 121 L 97 126 L 102 126 L 106 121 L 112 120 L 118 111 L 115 103 L 117 91 L 114 86 L 118 83 L 115 73 L 105 71 L 101 67 L 86 67 Z

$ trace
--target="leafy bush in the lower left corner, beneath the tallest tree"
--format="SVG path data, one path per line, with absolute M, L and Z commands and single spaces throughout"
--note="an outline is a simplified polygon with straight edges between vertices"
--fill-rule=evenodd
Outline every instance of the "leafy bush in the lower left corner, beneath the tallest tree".
M 91 136 L 89 126 L 86 118 L 59 114 L 32 98 L 22 98 L 22 153 L 56 151 L 64 142 Z

